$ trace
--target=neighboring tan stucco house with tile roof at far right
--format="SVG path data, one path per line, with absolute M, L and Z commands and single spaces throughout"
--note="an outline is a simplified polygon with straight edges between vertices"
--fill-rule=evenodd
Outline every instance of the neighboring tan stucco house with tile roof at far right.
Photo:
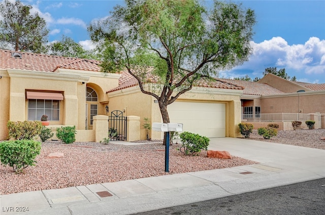
M 245 88 L 241 96 L 243 118 L 267 113 L 325 114 L 325 83 L 290 81 L 271 73 L 257 82 L 221 80 Z

